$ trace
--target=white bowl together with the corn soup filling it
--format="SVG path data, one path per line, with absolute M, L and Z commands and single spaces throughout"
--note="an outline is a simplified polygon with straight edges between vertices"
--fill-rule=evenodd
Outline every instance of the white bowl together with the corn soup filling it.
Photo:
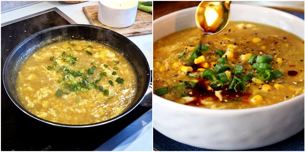
M 304 20 L 232 4 L 228 27 L 211 36 L 196 28 L 195 11 L 154 21 L 154 128 L 215 150 L 262 147 L 300 132 Z

